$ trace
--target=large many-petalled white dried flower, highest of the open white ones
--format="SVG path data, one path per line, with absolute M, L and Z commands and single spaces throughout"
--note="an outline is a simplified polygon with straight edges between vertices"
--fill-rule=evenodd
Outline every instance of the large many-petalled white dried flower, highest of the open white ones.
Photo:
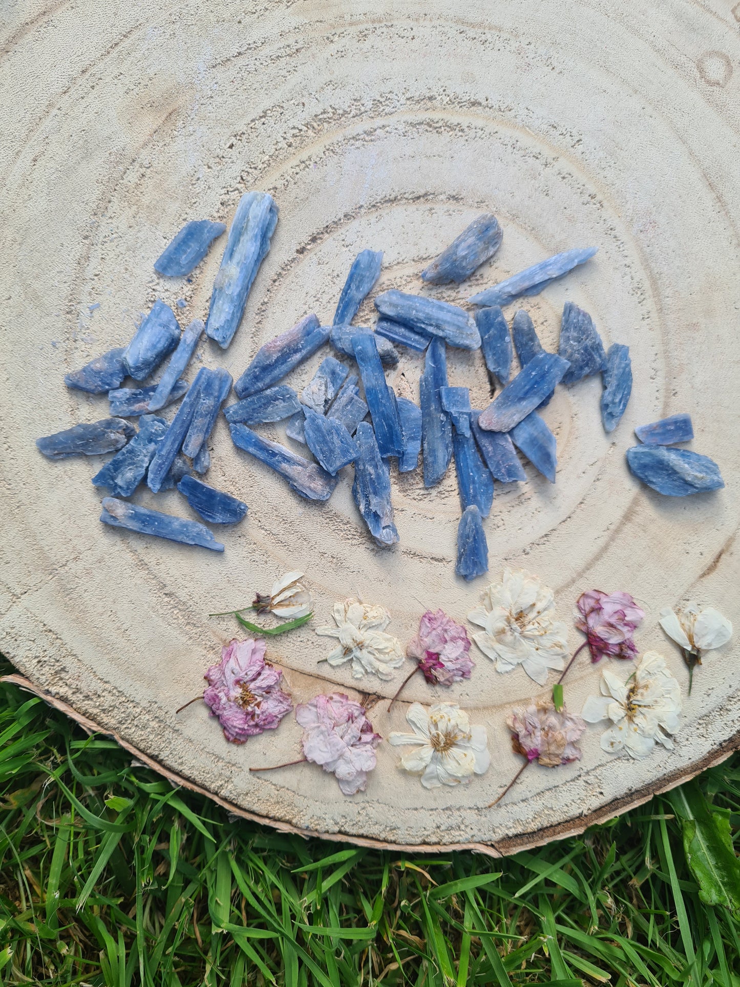
M 567 630 L 555 620 L 553 590 L 523 569 L 504 569 L 503 581 L 481 593 L 481 603 L 468 620 L 483 628 L 473 640 L 496 663 L 499 672 L 521 664 L 530 678 L 544 685 L 548 670 L 563 667 Z

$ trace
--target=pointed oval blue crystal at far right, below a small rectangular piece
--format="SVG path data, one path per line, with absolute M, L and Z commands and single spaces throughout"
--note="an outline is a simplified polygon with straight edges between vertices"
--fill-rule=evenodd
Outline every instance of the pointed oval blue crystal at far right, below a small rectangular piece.
M 717 464 L 689 449 L 633 445 L 627 450 L 627 461 L 635 477 L 666 496 L 689 496 L 724 487 Z

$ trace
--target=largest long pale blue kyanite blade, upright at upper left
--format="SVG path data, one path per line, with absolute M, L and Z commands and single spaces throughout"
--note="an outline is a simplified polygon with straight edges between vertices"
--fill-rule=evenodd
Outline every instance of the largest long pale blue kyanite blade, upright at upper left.
M 222 349 L 226 349 L 239 329 L 250 289 L 259 265 L 267 256 L 276 225 L 277 206 L 271 195 L 263 191 L 248 191 L 242 195 L 213 282 L 205 324 L 205 335 Z

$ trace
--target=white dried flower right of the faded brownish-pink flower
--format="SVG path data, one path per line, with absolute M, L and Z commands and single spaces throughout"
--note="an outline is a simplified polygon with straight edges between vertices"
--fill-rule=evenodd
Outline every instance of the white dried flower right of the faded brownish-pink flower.
M 656 741 L 673 749 L 670 734 L 681 721 L 681 689 L 662 654 L 643 654 L 627 682 L 605 668 L 601 693 L 588 697 L 581 717 L 589 723 L 611 720 L 615 724 L 602 735 L 604 750 L 626 750 L 640 758 L 647 757 Z

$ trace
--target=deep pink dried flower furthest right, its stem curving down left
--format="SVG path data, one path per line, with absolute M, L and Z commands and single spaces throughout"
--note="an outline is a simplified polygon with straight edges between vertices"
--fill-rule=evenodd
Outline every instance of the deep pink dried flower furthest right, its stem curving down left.
M 575 626 L 588 638 L 591 660 L 633 658 L 637 645 L 632 641 L 635 628 L 645 616 L 629 593 L 604 593 L 589 589 L 578 597 Z

